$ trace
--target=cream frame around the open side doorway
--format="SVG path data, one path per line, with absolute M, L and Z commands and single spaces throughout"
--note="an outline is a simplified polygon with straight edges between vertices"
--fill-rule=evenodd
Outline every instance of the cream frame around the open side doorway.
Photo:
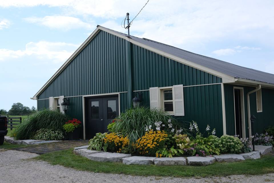
M 234 121 L 235 121 L 235 135 L 236 134 L 236 111 L 235 111 L 235 89 L 240 90 L 240 98 L 241 98 L 241 125 L 242 125 L 242 137 L 245 138 L 245 103 L 244 103 L 244 93 L 243 93 L 243 87 L 236 87 L 233 86 L 233 102 L 234 102 Z

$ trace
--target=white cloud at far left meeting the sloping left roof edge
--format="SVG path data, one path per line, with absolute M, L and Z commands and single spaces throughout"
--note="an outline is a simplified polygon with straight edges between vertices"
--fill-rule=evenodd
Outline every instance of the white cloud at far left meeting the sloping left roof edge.
M 0 61 L 32 55 L 41 60 L 46 58 L 55 62 L 63 62 L 67 60 L 78 47 L 79 45 L 63 42 L 30 42 L 26 44 L 25 50 L 0 49 Z

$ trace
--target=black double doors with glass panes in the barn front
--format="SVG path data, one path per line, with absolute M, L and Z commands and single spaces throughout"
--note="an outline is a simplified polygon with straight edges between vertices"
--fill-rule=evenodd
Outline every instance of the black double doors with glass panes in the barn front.
M 107 126 L 119 115 L 118 96 L 86 98 L 86 139 L 91 139 L 96 133 L 107 132 Z

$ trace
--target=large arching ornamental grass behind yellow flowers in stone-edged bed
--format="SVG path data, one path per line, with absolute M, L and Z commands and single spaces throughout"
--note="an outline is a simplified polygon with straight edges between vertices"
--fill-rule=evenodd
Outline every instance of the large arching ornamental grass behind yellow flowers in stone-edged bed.
M 144 136 L 146 128 L 147 130 L 155 129 L 155 122 L 162 122 L 161 130 L 165 130 L 166 132 L 175 131 L 176 129 L 170 128 L 170 126 L 176 127 L 178 125 L 178 122 L 171 118 L 168 113 L 144 107 L 128 109 L 115 120 L 114 132 L 128 136 L 130 146 Z M 168 126 L 169 124 L 170 126 Z

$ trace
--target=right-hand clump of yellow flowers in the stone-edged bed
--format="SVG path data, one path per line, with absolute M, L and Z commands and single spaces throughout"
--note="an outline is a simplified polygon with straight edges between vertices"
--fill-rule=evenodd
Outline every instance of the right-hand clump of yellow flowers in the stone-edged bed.
M 136 141 L 136 150 L 139 154 L 154 156 L 159 149 L 164 148 L 167 136 L 168 134 L 164 130 L 150 130 Z

